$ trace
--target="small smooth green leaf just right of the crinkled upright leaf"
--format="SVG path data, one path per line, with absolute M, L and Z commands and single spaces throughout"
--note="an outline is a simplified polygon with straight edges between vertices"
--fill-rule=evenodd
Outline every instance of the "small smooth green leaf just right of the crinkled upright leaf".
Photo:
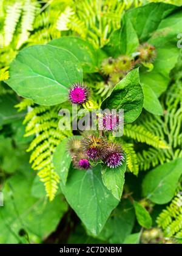
M 153 92 L 152 88 L 146 84 L 141 84 L 144 94 L 144 105 L 143 107 L 152 114 L 162 115 L 163 108 L 161 106 L 160 101 L 157 98 L 155 92 Z

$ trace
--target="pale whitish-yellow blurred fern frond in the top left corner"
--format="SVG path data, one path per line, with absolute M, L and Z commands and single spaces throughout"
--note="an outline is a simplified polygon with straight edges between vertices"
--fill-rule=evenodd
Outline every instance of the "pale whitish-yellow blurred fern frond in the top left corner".
M 16 26 L 21 16 L 22 4 L 15 2 L 13 5 L 8 5 L 7 15 L 4 22 L 4 46 L 8 46 L 13 39 Z

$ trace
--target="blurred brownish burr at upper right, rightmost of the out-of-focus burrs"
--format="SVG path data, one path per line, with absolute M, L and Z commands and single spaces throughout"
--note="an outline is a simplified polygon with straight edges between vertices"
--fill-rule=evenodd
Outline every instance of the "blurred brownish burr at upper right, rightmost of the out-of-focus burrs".
M 138 52 L 140 52 L 138 61 L 140 62 L 153 62 L 157 56 L 155 47 L 152 44 L 144 43 L 138 47 Z

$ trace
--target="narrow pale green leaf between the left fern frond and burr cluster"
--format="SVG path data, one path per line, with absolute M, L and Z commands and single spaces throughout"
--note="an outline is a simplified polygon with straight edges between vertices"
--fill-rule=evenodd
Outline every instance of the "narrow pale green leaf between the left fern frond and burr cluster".
M 66 184 L 70 164 L 72 162 L 72 157 L 67 150 L 68 140 L 69 139 L 62 140 L 58 147 L 56 147 L 55 153 L 53 155 L 53 164 L 55 166 L 55 171 L 56 173 L 58 173 L 64 185 Z

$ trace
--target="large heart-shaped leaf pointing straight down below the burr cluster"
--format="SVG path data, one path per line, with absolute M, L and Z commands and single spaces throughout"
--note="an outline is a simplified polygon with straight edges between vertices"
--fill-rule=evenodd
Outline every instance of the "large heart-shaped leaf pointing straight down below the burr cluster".
M 71 168 L 66 185 L 61 182 L 61 190 L 93 235 L 101 232 L 107 218 L 119 202 L 104 186 L 100 165 L 87 171 Z

